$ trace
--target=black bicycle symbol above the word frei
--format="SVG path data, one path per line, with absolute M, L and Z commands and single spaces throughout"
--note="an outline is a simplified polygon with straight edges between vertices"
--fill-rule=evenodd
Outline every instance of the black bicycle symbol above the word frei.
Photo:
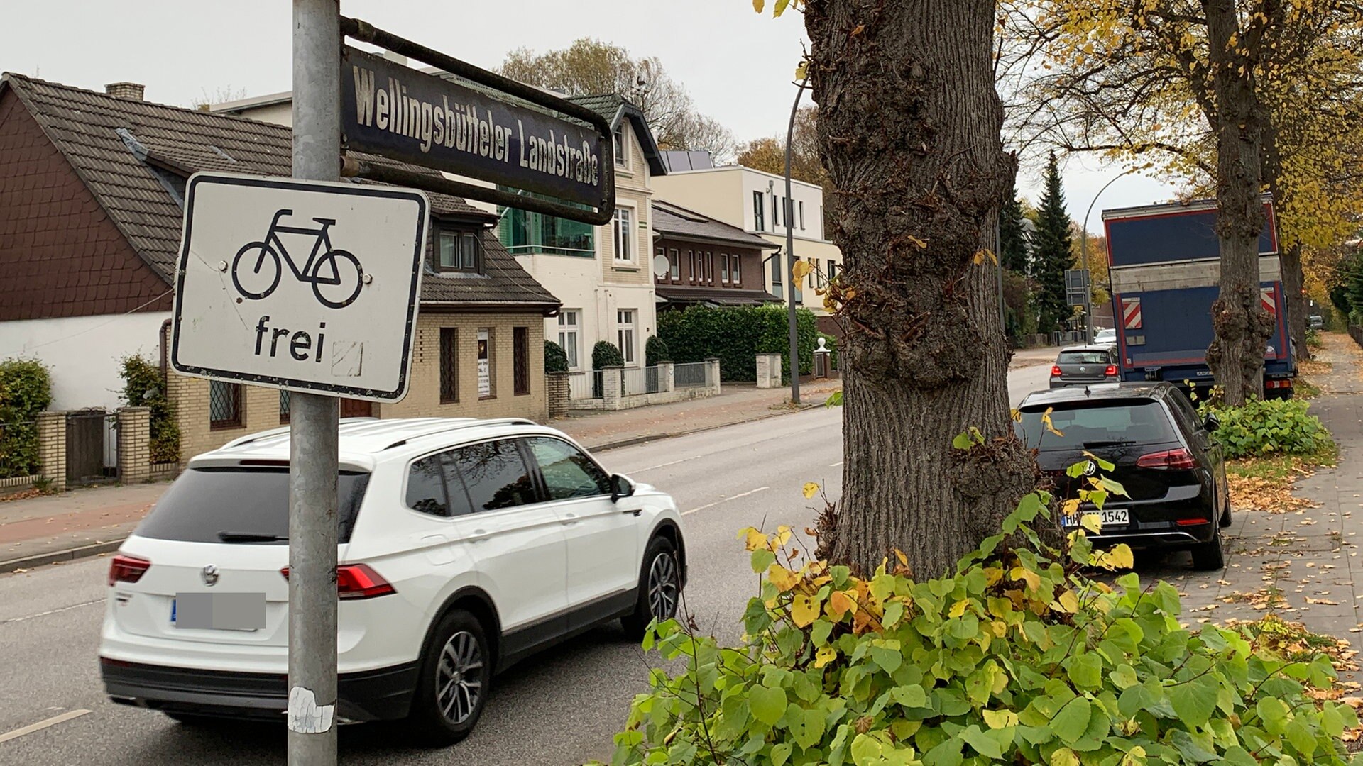
M 345 308 L 354 303 L 364 284 L 364 269 L 360 267 L 358 258 L 343 249 L 331 247 L 328 229 L 335 225 L 335 218 L 313 218 L 322 228 L 305 229 L 300 226 L 281 226 L 279 219 L 285 215 L 293 215 L 293 211 L 277 210 L 264 239 L 241 245 L 236 258 L 232 259 L 232 284 L 237 288 L 237 292 L 251 300 L 269 297 L 279 286 L 279 278 L 284 275 L 282 256 L 282 262 L 289 264 L 289 271 L 293 273 L 297 281 L 312 285 L 312 294 L 318 297 L 322 305 Z M 316 237 L 312 243 L 312 252 L 301 269 L 293 260 L 293 256 L 289 255 L 289 249 L 284 247 L 284 240 L 279 239 L 279 234 Z M 241 259 L 252 252 L 259 252 L 259 255 L 248 258 L 243 263 Z M 343 267 L 343 263 L 348 263 L 349 267 Z M 243 271 L 243 266 L 248 266 L 249 269 Z M 243 281 L 247 284 L 243 284 Z

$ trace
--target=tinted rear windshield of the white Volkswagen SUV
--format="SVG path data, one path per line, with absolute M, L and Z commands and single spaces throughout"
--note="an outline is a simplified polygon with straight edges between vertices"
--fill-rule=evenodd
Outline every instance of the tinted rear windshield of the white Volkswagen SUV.
M 364 472 L 342 470 L 337 480 L 337 533 L 341 542 L 350 541 L 368 484 L 369 474 Z M 184 542 L 286 545 L 289 469 L 189 469 L 161 496 L 136 533 Z

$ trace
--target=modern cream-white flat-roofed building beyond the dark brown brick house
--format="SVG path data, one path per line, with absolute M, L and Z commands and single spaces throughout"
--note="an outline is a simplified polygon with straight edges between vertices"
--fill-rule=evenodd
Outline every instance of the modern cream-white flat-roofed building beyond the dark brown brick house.
M 795 256 L 808 260 L 814 271 L 795 285 L 796 304 L 825 313 L 823 300 L 814 290 L 842 270 L 842 251 L 823 232 L 823 189 L 804 181 L 791 181 L 785 196 L 785 179 L 741 165 L 722 168 L 673 169 L 653 179 L 658 199 L 703 213 L 711 218 L 759 234 L 781 245 L 781 258 L 770 258 L 763 273 L 766 289 L 786 300 L 785 239 L 795 237 Z

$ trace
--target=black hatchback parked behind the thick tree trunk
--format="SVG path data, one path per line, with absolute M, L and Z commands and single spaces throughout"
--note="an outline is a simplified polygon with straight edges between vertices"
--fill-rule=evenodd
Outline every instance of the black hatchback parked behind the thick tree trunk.
M 1077 526 L 1082 514 L 1101 517 L 1094 545 L 1126 542 L 1133 548 L 1183 548 L 1198 570 L 1225 566 L 1221 527 L 1231 523 L 1225 457 L 1212 438 L 1214 416 L 1202 420 L 1189 398 L 1168 383 L 1111 383 L 1037 391 L 1022 399 L 1015 431 L 1037 450 L 1041 470 L 1054 477 L 1062 499 L 1077 497 L 1089 476 L 1122 484 L 1127 496 L 1111 496 L 1099 511 L 1081 507 L 1062 525 Z M 1043 416 L 1051 410 L 1045 428 Z M 1088 457 L 1114 463 L 1101 470 Z M 1084 476 L 1066 469 L 1084 463 Z

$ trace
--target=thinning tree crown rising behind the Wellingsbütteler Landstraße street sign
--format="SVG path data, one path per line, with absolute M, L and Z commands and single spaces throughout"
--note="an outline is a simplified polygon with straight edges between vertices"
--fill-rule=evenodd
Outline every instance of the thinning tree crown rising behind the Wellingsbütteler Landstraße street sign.
M 720 161 L 733 157 L 733 134 L 702 114 L 656 56 L 635 59 L 619 45 L 583 37 L 544 53 L 518 48 L 507 53 L 497 72 L 570 95 L 617 93 L 643 112 L 662 149 L 709 151 Z

